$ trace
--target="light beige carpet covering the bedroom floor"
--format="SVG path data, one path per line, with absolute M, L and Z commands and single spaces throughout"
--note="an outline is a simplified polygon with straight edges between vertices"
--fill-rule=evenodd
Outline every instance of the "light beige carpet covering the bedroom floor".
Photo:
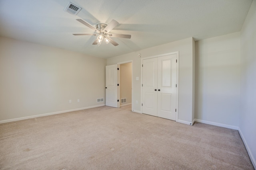
M 0 168 L 253 170 L 237 130 L 108 106 L 0 124 Z

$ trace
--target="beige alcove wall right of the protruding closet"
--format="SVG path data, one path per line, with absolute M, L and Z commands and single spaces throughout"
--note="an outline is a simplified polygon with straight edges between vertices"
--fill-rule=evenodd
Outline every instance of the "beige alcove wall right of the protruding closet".
M 196 41 L 195 107 L 196 119 L 204 123 L 238 127 L 240 32 Z

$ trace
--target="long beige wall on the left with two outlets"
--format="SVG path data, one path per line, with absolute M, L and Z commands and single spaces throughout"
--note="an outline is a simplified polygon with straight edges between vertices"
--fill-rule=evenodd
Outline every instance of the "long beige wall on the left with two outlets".
M 105 104 L 96 101 L 105 98 L 105 66 L 106 59 L 0 37 L 0 121 Z

